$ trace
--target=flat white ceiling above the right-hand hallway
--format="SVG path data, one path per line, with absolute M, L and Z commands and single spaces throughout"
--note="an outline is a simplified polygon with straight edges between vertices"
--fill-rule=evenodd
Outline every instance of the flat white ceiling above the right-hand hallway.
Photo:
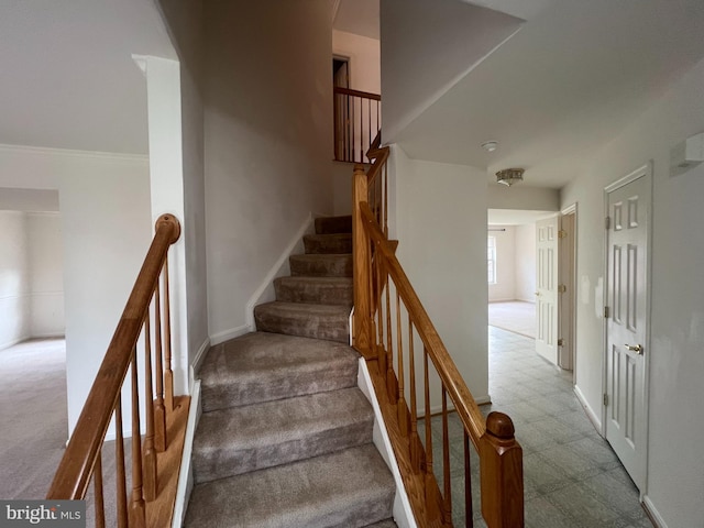
M 474 3 L 526 22 L 389 140 L 413 158 L 486 168 L 490 182 L 518 166 L 524 186 L 564 186 L 704 57 L 702 0 Z M 499 147 L 485 152 L 487 140 Z

